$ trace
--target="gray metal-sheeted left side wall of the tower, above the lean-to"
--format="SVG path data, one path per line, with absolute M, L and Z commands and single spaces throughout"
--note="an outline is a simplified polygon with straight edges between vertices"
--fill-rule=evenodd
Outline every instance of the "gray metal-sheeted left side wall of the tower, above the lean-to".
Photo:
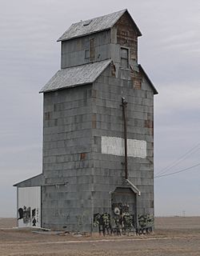
M 91 90 L 92 86 L 87 85 L 44 94 L 44 115 L 50 111 L 50 117 L 45 120 L 43 172 L 46 183 L 68 182 L 66 186 L 42 186 L 42 226 L 46 228 L 91 230 Z M 57 125 L 48 127 L 56 119 Z M 50 134 L 50 141 L 46 140 L 46 129 L 55 127 L 58 129 Z

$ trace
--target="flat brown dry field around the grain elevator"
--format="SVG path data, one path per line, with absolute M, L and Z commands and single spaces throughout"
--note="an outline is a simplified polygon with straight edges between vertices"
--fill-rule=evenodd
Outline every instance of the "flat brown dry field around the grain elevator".
M 78 236 L 12 229 L 14 218 L 0 218 L 0 255 L 37 256 L 200 256 L 200 217 L 155 218 L 154 234 Z

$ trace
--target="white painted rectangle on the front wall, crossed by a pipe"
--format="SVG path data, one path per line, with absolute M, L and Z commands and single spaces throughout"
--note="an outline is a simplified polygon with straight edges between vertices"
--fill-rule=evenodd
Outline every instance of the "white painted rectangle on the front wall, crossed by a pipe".
M 102 136 L 102 154 L 124 156 L 124 139 Z M 127 139 L 128 157 L 146 158 L 146 141 Z

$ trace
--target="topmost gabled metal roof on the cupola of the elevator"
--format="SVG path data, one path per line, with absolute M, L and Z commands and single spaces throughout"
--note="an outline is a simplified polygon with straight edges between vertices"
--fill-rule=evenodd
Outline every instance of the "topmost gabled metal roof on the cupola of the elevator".
M 109 30 L 114 26 L 118 19 L 122 17 L 123 14 L 128 13 L 128 10 L 119 10 L 112 14 L 107 14 L 98 18 L 91 18 L 86 21 L 81 21 L 77 23 L 73 23 L 68 30 L 60 38 L 58 41 L 66 41 L 72 38 L 78 38 L 80 36 L 85 36 L 87 34 L 93 34 L 102 30 Z M 130 14 L 129 14 L 130 15 Z M 133 18 L 130 15 L 130 18 L 134 22 Z M 134 22 L 134 26 L 138 30 L 138 36 L 142 35 L 138 26 Z

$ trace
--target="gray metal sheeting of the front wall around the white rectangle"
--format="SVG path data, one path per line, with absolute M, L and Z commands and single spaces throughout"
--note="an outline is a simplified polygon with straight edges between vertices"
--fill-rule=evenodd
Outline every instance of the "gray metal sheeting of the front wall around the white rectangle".
M 123 157 L 102 153 L 102 136 L 119 137 L 122 135 L 121 97 L 128 102 L 128 138 L 146 141 L 146 158 L 129 158 L 129 179 L 138 190 L 141 197 L 137 202 L 137 214 L 154 214 L 154 136 L 149 128 L 153 122 L 154 90 L 149 86 L 142 86 L 142 90 L 134 90 L 131 86 L 129 70 L 120 70 L 119 78 L 106 74 L 109 67 L 102 72 L 94 82 L 95 102 L 93 108 L 96 113 L 98 129 L 93 130 L 95 138 L 94 152 L 94 214 L 110 213 L 107 202 L 99 201 L 100 193 L 109 194 L 116 186 L 122 186 L 124 173 Z M 123 75 L 122 75 L 123 74 Z M 125 78 L 125 79 L 122 79 Z M 147 90 L 148 89 L 148 90 Z M 150 91 L 151 90 L 151 91 Z M 146 121 L 148 120 L 148 122 Z M 148 127 L 146 127 L 148 125 Z M 105 199 L 105 198 L 104 198 Z M 109 198 L 108 198 L 109 199 Z

